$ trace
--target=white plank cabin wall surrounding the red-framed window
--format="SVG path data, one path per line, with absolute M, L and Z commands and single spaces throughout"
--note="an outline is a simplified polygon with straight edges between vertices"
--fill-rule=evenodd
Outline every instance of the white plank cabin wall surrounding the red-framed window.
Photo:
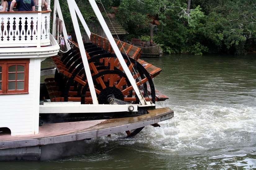
M 29 63 L 29 94 L 0 95 L 0 128 L 7 127 L 11 135 L 38 134 L 40 58 Z

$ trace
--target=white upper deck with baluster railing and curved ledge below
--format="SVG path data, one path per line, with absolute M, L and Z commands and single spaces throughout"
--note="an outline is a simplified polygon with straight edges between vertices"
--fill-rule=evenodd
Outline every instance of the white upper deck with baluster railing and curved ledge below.
M 46 11 L 1 12 L 1 58 L 56 55 L 59 45 L 50 34 L 50 15 L 50 8 Z

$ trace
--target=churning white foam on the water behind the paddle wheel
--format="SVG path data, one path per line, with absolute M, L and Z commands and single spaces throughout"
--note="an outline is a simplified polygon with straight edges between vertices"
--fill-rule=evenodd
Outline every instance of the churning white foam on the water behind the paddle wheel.
M 141 145 L 168 154 L 213 154 L 256 143 L 248 138 L 255 132 L 256 108 L 246 105 L 187 105 L 170 107 L 174 118 L 160 122 L 160 128 L 147 126 L 132 139 L 120 139 L 123 133 L 102 137 L 97 142 L 118 142 L 119 145 Z M 253 145 L 252 144 L 252 145 Z M 163 154 L 164 154 L 163 153 Z

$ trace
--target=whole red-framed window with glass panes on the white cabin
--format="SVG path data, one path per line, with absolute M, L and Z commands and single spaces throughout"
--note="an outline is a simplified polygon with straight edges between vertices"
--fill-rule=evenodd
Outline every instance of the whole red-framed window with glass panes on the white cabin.
M 29 92 L 29 59 L 0 60 L 0 95 Z

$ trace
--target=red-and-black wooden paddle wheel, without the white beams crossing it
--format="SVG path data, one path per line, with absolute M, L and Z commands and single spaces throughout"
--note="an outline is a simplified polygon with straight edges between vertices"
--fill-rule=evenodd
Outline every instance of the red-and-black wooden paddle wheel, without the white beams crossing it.
M 91 39 L 95 40 L 96 36 L 93 35 Z M 119 60 L 115 53 L 112 53 L 110 46 L 106 45 L 108 41 L 100 36 L 97 36 L 97 40 L 85 43 L 84 53 L 88 59 L 99 104 L 139 104 L 138 97 Z M 69 43 L 71 49 L 67 53 L 62 57 L 52 57 L 57 69 L 55 77 L 45 80 L 50 99 L 53 102 L 80 101 L 81 104 L 92 104 L 79 46 L 73 41 L 69 41 Z M 124 44 L 124 42 L 121 43 Z M 129 46 L 127 54 L 132 53 L 131 49 L 136 48 L 133 45 L 124 45 L 124 48 Z M 156 98 L 152 80 L 161 70 L 155 68 L 149 73 L 147 68 L 150 69 L 150 66 L 153 66 L 148 63 L 143 66 L 141 63 L 145 62 L 138 59 L 140 49 L 136 48 L 135 52 L 137 53 L 133 53 L 133 56 L 125 54 L 122 56 L 145 100 L 155 103 L 156 100 L 167 99 L 166 96 Z

